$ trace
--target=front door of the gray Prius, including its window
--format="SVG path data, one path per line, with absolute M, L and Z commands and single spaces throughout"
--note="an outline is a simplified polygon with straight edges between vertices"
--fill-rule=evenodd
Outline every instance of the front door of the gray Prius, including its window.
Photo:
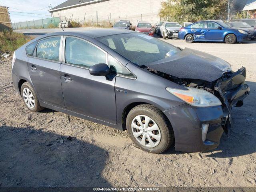
M 66 37 L 60 66 L 67 110 L 116 124 L 115 76 L 92 76 L 90 66 L 107 64 L 107 53 L 80 38 Z

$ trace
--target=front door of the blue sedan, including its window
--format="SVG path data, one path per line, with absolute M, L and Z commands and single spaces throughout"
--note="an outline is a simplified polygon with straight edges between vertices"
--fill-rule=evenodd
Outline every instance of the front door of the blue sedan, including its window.
M 223 29 L 219 29 L 218 27 L 221 27 L 221 26 L 215 22 L 207 22 L 206 39 L 222 40 Z

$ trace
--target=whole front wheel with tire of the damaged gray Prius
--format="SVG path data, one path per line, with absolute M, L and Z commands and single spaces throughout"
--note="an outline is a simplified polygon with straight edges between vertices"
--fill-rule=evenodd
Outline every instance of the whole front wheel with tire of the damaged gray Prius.
M 132 141 L 138 148 L 162 153 L 174 142 L 172 126 L 163 112 L 149 105 L 138 105 L 127 115 L 126 128 Z

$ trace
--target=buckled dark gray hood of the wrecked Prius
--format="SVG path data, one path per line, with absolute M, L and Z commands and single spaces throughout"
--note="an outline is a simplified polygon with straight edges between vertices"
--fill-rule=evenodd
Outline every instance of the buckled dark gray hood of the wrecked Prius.
M 230 64 L 210 54 L 185 48 L 168 58 L 146 64 L 157 70 L 183 79 L 199 79 L 213 82 L 225 72 L 231 71 Z

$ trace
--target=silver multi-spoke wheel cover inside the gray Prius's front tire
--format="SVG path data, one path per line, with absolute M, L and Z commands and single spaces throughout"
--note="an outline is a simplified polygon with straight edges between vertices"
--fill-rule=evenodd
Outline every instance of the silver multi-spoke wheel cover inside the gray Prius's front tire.
M 132 120 L 131 127 L 133 136 L 142 146 L 153 148 L 160 143 L 161 132 L 152 118 L 138 115 Z

